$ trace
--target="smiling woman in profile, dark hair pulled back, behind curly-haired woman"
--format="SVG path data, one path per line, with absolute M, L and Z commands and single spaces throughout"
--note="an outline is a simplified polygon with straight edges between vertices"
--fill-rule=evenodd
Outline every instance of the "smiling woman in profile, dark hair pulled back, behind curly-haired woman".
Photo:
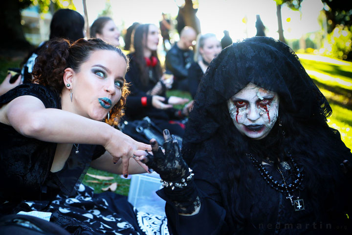
M 110 17 L 103 16 L 96 19 L 90 26 L 90 37 L 100 38 L 116 47 L 120 46 L 121 32 Z

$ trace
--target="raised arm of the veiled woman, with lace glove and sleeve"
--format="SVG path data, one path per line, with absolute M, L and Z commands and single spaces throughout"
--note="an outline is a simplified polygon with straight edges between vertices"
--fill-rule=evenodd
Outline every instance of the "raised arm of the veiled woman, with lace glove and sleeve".
M 164 130 L 164 138 L 165 154 L 152 139 L 153 155 L 142 151 L 136 151 L 136 155 L 164 181 L 164 188 L 157 194 L 167 202 L 169 229 L 182 235 L 209 234 L 209 231 L 227 234 L 226 211 L 220 206 L 219 190 L 210 182 L 196 181 L 168 131 Z

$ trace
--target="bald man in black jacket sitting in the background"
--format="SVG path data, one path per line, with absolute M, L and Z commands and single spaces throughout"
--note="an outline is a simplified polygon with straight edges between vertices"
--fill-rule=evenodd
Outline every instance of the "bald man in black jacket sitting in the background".
M 188 68 L 193 59 L 193 42 L 197 38 L 196 31 L 189 26 L 184 27 L 180 33 L 180 40 L 166 53 L 166 71 L 174 74 L 172 89 L 188 91 Z

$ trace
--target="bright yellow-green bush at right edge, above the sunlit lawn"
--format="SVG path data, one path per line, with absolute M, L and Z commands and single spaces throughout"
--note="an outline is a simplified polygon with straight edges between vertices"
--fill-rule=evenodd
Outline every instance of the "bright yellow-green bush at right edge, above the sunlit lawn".
M 352 48 L 352 26 L 348 28 L 337 24 L 336 27 L 328 34 L 320 52 L 334 58 L 346 60 Z

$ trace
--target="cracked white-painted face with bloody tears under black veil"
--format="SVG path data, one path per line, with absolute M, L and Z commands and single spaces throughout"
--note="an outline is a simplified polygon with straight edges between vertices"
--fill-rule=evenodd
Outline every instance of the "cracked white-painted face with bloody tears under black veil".
M 279 114 L 279 96 L 253 83 L 227 101 L 230 116 L 242 135 L 254 140 L 266 137 Z

